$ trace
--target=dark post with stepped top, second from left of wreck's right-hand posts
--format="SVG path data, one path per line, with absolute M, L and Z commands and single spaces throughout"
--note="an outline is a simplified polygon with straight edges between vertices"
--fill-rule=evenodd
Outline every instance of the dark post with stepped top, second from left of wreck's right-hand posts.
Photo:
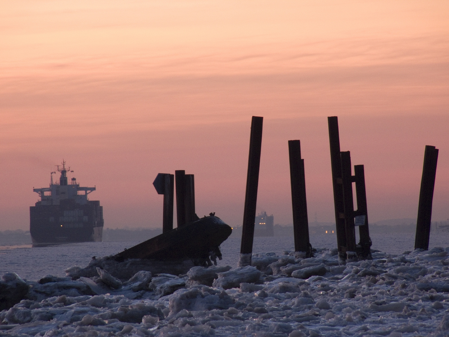
M 304 159 L 301 159 L 301 142 L 288 141 L 290 158 L 291 206 L 293 209 L 293 235 L 295 238 L 295 252 L 305 252 L 311 257 L 307 217 L 306 182 L 304 173 Z

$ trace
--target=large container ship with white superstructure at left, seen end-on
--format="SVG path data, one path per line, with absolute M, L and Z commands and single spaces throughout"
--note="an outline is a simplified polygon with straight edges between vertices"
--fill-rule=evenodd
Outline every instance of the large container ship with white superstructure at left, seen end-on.
M 62 166 L 62 167 L 60 167 Z M 33 188 L 40 201 L 30 207 L 30 234 L 33 245 L 61 244 L 70 242 L 101 241 L 103 235 L 103 207 L 98 200 L 87 196 L 95 187 L 80 187 L 76 178 L 67 183 L 66 162 L 57 165 L 61 173 L 59 183 L 50 187 Z M 70 171 L 73 172 L 73 171 Z

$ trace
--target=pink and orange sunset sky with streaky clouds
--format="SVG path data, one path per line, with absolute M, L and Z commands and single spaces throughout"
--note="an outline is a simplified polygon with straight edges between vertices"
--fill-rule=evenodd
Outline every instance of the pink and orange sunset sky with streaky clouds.
M 309 222 L 334 222 L 327 116 L 365 165 L 370 222 L 416 218 L 425 145 L 449 218 L 449 2 L 3 1 L 0 231 L 66 160 L 105 227 L 161 227 L 157 173 L 195 174 L 196 209 L 242 225 L 251 116 L 257 211 L 289 224 L 287 141 Z M 176 223 L 175 223 L 176 226 Z

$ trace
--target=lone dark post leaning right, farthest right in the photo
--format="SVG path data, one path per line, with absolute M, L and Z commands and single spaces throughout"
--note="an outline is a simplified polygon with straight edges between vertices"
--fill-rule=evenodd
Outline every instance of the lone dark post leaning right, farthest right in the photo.
M 430 225 L 432 218 L 432 200 L 435 187 L 438 149 L 426 145 L 424 152 L 423 176 L 419 191 L 418 219 L 416 222 L 415 249 L 429 249 Z

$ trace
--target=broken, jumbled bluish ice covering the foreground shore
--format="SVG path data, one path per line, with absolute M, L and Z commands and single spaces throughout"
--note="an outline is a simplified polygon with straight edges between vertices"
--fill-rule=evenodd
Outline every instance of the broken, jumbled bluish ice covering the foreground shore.
M 252 266 L 128 279 L 106 265 L 39 282 L 7 273 L 2 303 L 29 290 L 0 311 L 0 336 L 449 336 L 449 247 L 372 255 L 340 266 L 336 249 L 257 253 Z

